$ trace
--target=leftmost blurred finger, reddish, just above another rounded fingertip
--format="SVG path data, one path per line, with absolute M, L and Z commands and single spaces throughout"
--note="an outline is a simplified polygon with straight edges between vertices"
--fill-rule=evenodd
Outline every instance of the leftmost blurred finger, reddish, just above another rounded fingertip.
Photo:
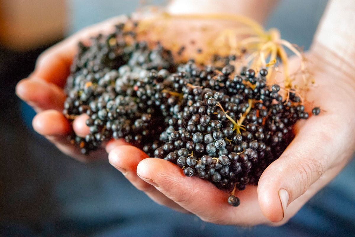
M 66 95 L 58 86 L 39 78 L 23 79 L 16 85 L 16 94 L 36 112 L 45 109 L 63 110 Z

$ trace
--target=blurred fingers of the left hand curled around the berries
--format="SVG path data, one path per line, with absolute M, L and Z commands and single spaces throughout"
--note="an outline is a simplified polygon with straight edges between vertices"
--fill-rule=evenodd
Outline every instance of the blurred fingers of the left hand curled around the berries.
M 87 41 L 90 36 L 99 32 L 112 32 L 114 25 L 126 21 L 126 17 L 116 17 L 95 26 L 83 29 L 81 32 L 65 39 L 44 51 L 37 60 L 34 72 L 28 78 L 21 80 L 16 86 L 16 94 L 32 106 L 35 115 L 32 125 L 35 131 L 53 142 L 62 152 L 79 160 L 106 158 L 105 149 L 92 152 L 90 156 L 83 155 L 76 145 L 72 145 L 68 136 L 72 129 L 77 135 L 87 133 L 83 126 L 85 116 L 79 116 L 73 124 L 62 114 L 66 98 L 64 85 L 69 75 L 69 68 L 76 53 L 77 43 Z M 115 146 L 127 144 L 118 140 L 110 142 Z

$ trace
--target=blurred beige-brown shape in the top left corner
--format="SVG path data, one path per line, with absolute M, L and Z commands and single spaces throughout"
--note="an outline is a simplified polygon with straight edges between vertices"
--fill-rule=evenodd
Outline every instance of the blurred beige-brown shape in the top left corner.
M 0 44 L 26 51 L 61 39 L 66 30 L 64 0 L 0 0 Z

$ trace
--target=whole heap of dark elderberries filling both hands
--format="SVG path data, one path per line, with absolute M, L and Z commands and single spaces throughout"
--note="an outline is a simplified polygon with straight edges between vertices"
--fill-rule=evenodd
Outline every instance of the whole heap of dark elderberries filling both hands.
M 169 50 L 150 49 L 123 24 L 89 46 L 79 44 L 64 114 L 87 113 L 90 133 L 72 141 L 88 153 L 123 138 L 182 167 L 186 176 L 233 190 L 228 202 L 239 205 L 234 190 L 257 184 L 308 113 L 294 91 L 283 98 L 279 85 L 266 83 L 266 68 L 238 72 L 230 64 L 234 56 L 215 60 L 223 66 L 177 65 Z

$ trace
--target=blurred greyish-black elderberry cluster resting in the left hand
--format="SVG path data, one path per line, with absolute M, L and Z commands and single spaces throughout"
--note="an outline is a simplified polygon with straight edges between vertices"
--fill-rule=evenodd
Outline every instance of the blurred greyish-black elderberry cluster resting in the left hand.
M 171 52 L 160 44 L 149 49 L 136 38 L 135 31 L 125 31 L 120 24 L 115 33 L 93 37 L 88 46 L 79 43 L 67 79 L 64 114 L 70 119 L 89 115 L 90 133 L 72 137 L 82 153 L 112 137 L 124 138 L 151 156 L 159 146 L 160 132 L 167 126 L 159 111 L 162 82 L 175 63 Z

